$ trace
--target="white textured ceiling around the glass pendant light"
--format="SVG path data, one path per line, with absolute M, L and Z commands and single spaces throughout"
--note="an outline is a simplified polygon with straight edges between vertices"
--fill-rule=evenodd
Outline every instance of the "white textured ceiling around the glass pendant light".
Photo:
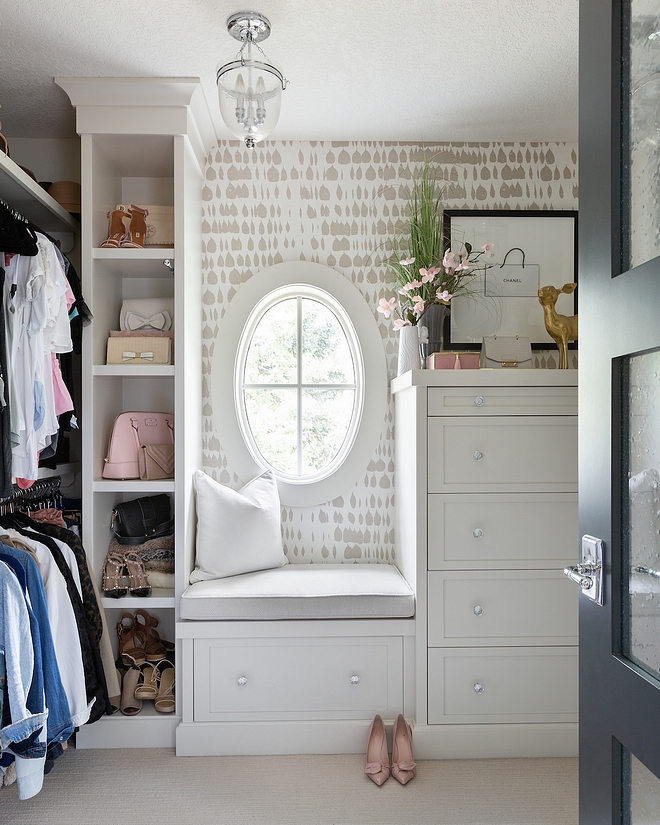
M 7 137 L 73 137 L 54 77 L 199 77 L 254 9 L 290 86 L 272 139 L 576 141 L 578 0 L 0 0 Z

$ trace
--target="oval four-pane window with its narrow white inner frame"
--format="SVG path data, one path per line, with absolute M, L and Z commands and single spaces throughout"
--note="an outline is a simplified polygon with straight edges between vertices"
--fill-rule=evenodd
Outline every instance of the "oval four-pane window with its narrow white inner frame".
M 239 425 L 253 458 L 292 483 L 334 472 L 363 400 L 360 347 L 339 302 L 301 284 L 271 292 L 248 318 L 236 366 Z

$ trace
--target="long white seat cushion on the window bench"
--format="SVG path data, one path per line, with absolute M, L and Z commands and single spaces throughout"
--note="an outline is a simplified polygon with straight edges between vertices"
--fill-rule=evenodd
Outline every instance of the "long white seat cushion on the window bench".
M 196 582 L 181 597 L 181 618 L 204 621 L 414 615 L 414 593 L 389 564 L 289 564 Z

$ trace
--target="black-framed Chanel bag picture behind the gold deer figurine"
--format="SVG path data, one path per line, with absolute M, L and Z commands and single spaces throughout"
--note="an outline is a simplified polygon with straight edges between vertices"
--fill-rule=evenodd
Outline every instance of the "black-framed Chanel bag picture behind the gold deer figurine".
M 494 244 L 469 295 L 452 299 L 451 349 L 479 349 L 486 335 L 520 335 L 533 349 L 554 349 L 538 290 L 577 283 L 577 212 L 446 209 L 444 234 L 452 250 Z M 562 294 L 560 315 L 575 315 L 577 292 Z M 569 344 L 571 349 L 577 343 Z

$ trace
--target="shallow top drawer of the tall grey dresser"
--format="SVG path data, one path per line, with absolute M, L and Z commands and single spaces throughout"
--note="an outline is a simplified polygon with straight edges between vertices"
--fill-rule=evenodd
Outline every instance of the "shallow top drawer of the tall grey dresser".
M 428 414 L 577 415 L 577 387 L 429 387 Z

